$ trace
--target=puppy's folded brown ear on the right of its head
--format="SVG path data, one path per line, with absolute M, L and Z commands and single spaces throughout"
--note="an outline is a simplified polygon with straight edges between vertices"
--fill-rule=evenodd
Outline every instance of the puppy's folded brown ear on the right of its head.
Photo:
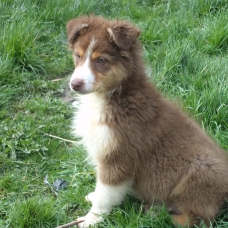
M 124 21 L 110 23 L 107 31 L 110 35 L 110 40 L 124 50 L 129 49 L 141 33 L 134 25 Z

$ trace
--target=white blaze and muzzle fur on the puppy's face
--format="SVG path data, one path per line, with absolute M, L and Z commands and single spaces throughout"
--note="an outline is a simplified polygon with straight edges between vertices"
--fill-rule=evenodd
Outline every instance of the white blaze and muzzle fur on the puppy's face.
M 70 79 L 70 88 L 71 89 L 72 89 L 71 82 L 75 79 L 79 79 L 79 80 L 83 81 L 83 86 L 81 88 L 82 93 L 89 93 L 93 90 L 93 85 L 95 82 L 95 75 L 93 74 L 92 70 L 90 69 L 90 58 L 91 58 L 92 50 L 93 50 L 95 44 L 96 44 L 96 41 L 93 38 L 85 52 L 85 58 L 86 58 L 85 62 L 81 66 L 75 68 L 75 70 L 71 76 L 71 79 Z

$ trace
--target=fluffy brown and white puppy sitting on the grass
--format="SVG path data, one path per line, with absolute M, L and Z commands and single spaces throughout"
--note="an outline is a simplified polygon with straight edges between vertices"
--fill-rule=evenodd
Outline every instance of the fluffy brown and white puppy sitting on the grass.
M 149 82 L 134 25 L 94 15 L 67 23 L 80 94 L 73 121 L 95 166 L 80 227 L 102 221 L 127 193 L 164 202 L 174 223 L 209 226 L 228 197 L 225 152 Z

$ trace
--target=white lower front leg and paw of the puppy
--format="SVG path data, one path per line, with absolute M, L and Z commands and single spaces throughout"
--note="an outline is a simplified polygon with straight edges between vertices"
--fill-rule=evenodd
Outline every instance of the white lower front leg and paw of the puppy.
M 79 224 L 79 228 L 89 227 L 103 220 L 102 215 L 108 214 L 112 207 L 119 205 L 129 192 L 131 182 L 121 183 L 119 185 L 108 185 L 97 181 L 95 192 L 93 192 L 92 207 L 89 213 L 78 220 L 84 220 Z

